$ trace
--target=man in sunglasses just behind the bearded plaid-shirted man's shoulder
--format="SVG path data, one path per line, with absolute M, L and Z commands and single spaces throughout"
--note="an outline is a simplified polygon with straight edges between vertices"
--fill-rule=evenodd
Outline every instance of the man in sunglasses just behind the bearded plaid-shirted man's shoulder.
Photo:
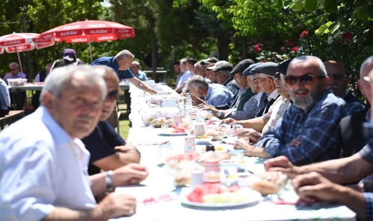
M 349 76 L 347 75 L 346 68 L 334 60 L 324 62 L 324 65 L 330 79 L 329 88 L 332 89 L 334 95 L 343 98 L 351 107 L 352 112 L 367 109 L 357 97 L 348 92 Z

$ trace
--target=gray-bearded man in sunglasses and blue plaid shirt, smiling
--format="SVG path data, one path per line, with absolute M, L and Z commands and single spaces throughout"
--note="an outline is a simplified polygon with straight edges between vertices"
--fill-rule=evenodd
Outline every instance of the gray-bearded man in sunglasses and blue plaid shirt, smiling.
M 245 155 L 284 155 L 295 165 L 338 158 L 339 122 L 350 108 L 328 89 L 329 78 L 320 58 L 294 58 L 284 81 L 293 105 L 255 145 L 245 147 Z

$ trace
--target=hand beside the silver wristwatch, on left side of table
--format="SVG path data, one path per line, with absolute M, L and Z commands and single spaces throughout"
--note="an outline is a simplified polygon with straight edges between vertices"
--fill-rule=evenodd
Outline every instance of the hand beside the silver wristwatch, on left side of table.
M 122 185 L 138 184 L 146 179 L 149 171 L 145 166 L 139 164 L 128 164 L 113 170 L 114 187 Z

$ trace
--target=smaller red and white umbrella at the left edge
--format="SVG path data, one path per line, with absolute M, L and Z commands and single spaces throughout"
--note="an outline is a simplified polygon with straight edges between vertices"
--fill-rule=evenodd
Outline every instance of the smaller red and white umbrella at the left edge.
M 41 49 L 54 45 L 54 39 L 48 36 L 42 36 L 37 33 L 15 33 L 7 34 L 0 37 L 0 54 L 4 52 L 16 53 L 18 55 L 18 62 L 20 63 L 21 72 L 22 63 L 20 52 Z

